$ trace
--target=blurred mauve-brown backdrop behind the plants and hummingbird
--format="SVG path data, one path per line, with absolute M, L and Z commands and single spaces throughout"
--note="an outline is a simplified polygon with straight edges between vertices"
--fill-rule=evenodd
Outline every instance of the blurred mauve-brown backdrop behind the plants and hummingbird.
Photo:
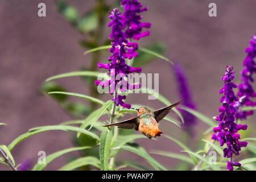
M 46 3 L 46 17 L 38 16 L 38 4 Z M 76 11 L 77 16 L 92 10 L 96 5 L 93 0 L 65 0 Z M 217 17 L 208 16 L 210 2 L 217 4 Z M 108 7 L 117 5 L 118 1 L 106 0 Z M 140 46 L 158 44 L 159 51 L 172 61 L 179 63 L 187 75 L 192 98 L 197 110 L 212 118 L 218 115 L 221 77 L 226 65 L 232 65 L 236 71 L 235 82 L 240 82 L 242 61 L 246 54 L 244 49 L 249 45 L 251 36 L 256 33 L 255 0 L 147 0 L 141 1 L 148 7 L 144 12 L 143 22 L 151 22 L 150 36 L 139 41 Z M 64 3 L 65 5 L 65 3 Z M 108 14 L 102 26 L 102 44 L 110 34 Z M 91 56 L 84 55 L 88 45 L 83 42 L 85 34 L 77 31 L 74 24 L 68 23 L 61 15 L 60 4 L 51 0 L 2 0 L 0 2 L 0 143 L 9 144 L 20 134 L 36 126 L 58 125 L 69 121 L 72 116 L 61 108 L 50 97 L 42 93 L 46 78 L 60 73 L 90 69 Z M 70 19 L 69 19 L 70 22 Z M 93 21 L 92 21 L 93 22 Z M 93 26 L 93 25 L 92 25 Z M 106 63 L 109 53 L 102 51 L 98 61 Z M 178 101 L 177 84 L 172 66 L 166 61 L 155 59 L 142 67 L 144 73 L 159 73 L 159 93 L 171 102 Z M 99 70 L 100 71 L 100 70 Z M 73 93 L 90 94 L 89 84 L 85 85 L 79 77 L 56 80 L 65 90 Z M 56 85 L 54 85 L 56 86 Z M 254 85 L 255 86 L 255 85 Z M 99 96 L 102 100 L 110 99 L 109 94 Z M 60 98 L 61 100 L 62 98 Z M 76 98 L 68 98 L 74 103 L 89 103 Z M 159 109 L 164 105 L 158 100 L 147 100 L 146 94 L 130 94 L 129 104 L 142 104 Z M 80 105 L 76 105 L 80 108 Z M 73 108 L 73 107 L 72 107 Z M 84 108 L 82 108 L 84 109 Z M 79 109 L 78 109 L 79 110 Z M 86 113 L 86 109 L 84 111 Z M 133 114 L 135 115 L 135 114 Z M 133 117 L 126 115 L 124 118 Z M 174 113 L 170 114 L 176 117 Z M 255 136 L 255 115 L 247 119 L 248 132 Z M 104 120 L 102 120 L 104 121 Z M 205 123 L 197 120 L 193 127 L 193 137 L 183 137 L 191 149 L 199 146 L 199 139 L 208 129 Z M 170 122 L 163 121 L 159 126 L 164 134 L 176 138 L 184 131 Z M 135 131 L 134 131 L 135 132 Z M 13 150 L 16 163 L 28 161 L 34 166 L 38 151 L 51 154 L 74 146 L 73 133 L 48 131 L 24 140 Z M 210 138 L 204 136 L 204 138 Z M 164 137 L 157 140 L 138 139 L 147 151 L 152 149 L 179 152 L 181 149 Z M 79 156 L 72 152 L 57 158 L 46 169 L 59 169 L 70 158 Z M 179 161 L 163 156 L 153 155 L 159 163 L 174 168 Z M 241 156 L 240 156 L 241 157 Z M 123 152 L 118 158 L 127 158 Z M 130 155 L 127 160 L 147 162 L 137 155 Z M 8 170 L 0 165 L 0 170 Z

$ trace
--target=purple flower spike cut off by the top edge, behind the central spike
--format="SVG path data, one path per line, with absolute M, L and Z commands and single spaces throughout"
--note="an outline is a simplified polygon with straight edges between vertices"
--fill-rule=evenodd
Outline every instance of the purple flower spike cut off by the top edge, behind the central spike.
M 139 40 L 150 35 L 149 31 L 142 32 L 142 28 L 150 28 L 151 23 L 142 23 L 140 21 L 142 16 L 138 15 L 138 13 L 147 11 L 147 7 L 142 7 L 137 0 L 122 0 L 121 6 L 125 9 L 125 13 L 123 13 L 123 24 L 124 27 L 127 27 L 125 37 Z

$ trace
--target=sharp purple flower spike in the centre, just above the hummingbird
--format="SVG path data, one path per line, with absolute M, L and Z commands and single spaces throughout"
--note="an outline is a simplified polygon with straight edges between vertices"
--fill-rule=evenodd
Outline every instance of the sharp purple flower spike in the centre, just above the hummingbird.
M 132 59 L 137 56 L 135 50 L 138 48 L 138 43 L 131 43 L 125 38 L 125 34 L 122 32 L 123 16 L 121 16 L 121 12 L 115 8 L 110 14 L 109 18 L 112 19 L 112 21 L 108 24 L 108 27 L 112 27 L 112 32 L 109 35 L 109 39 L 112 39 L 112 47 L 109 49 L 109 52 L 112 54 L 112 56 L 109 57 L 111 63 L 98 63 L 99 68 L 108 69 L 110 80 L 105 82 L 96 80 L 95 84 L 103 88 L 110 86 L 110 94 L 113 94 L 117 91 L 116 88 L 120 88 L 121 92 L 126 92 L 127 88 L 130 90 L 140 88 L 140 84 L 129 85 L 125 77 L 127 77 L 129 73 L 139 73 L 142 69 L 130 67 L 125 63 L 125 59 Z M 131 105 L 125 104 L 125 102 L 122 101 L 125 98 L 126 97 L 118 95 L 114 100 L 115 104 L 130 109 Z

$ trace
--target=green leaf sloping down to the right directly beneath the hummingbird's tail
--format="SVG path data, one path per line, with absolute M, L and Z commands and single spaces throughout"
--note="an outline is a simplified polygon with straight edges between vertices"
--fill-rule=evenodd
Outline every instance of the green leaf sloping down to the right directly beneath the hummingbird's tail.
M 167 169 L 165 167 L 163 167 L 154 158 L 152 158 L 150 155 L 148 155 L 147 152 L 144 150 L 144 148 L 143 148 L 143 150 L 134 148 L 134 147 L 130 147 L 130 146 L 122 146 L 121 148 L 123 150 L 133 152 L 134 154 L 137 154 L 137 155 L 141 156 L 142 158 L 146 159 L 147 162 L 150 163 L 150 165 L 152 167 L 154 167 L 156 170 L 163 169 L 164 171 L 167 171 Z

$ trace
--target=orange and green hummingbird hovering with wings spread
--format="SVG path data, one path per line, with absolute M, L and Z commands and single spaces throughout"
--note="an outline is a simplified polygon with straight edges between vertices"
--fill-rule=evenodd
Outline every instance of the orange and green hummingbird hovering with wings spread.
M 127 119 L 122 122 L 105 125 L 104 127 L 118 126 L 122 129 L 135 129 L 136 131 L 139 130 L 149 139 L 160 137 L 163 132 L 158 129 L 158 122 L 166 117 L 172 107 L 177 106 L 178 104 L 180 104 L 180 102 L 181 101 L 175 102 L 170 106 L 163 107 L 162 109 L 158 109 L 155 111 L 150 111 L 149 109 L 147 109 L 147 107 L 139 107 L 138 109 L 135 109 L 138 113 L 137 117 Z

